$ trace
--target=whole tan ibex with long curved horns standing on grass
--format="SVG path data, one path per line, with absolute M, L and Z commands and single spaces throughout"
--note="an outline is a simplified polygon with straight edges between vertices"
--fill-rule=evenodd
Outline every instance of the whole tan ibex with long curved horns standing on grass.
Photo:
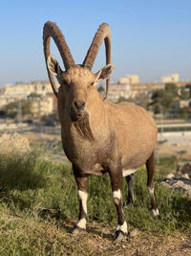
M 59 50 L 65 71 L 50 54 L 51 37 Z M 107 65 L 94 74 L 91 70 L 103 39 Z M 82 65 L 75 64 L 64 35 L 51 21 L 44 25 L 43 43 L 49 79 L 57 97 L 63 149 L 72 162 L 78 189 L 79 219 L 73 232 L 79 233 L 86 229 L 89 175 L 108 173 L 117 208 L 115 240 L 122 240 L 128 233 L 122 211 L 122 177 L 125 176 L 127 180 L 127 204 L 130 204 L 134 201 L 133 175 L 144 164 L 147 168 L 152 212 L 154 216 L 159 215 L 153 187 L 156 124 L 142 107 L 132 103 L 114 104 L 103 99 L 97 92 L 96 83 L 99 81 L 107 80 L 108 88 L 114 69 L 108 24 L 99 26 Z M 53 75 L 60 84 L 58 91 Z

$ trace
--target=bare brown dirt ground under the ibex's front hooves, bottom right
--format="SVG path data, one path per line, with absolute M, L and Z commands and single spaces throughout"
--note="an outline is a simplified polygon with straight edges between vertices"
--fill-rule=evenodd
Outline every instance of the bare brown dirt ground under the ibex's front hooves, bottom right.
M 125 256 L 188 256 L 191 255 L 191 236 L 162 236 L 138 231 L 134 238 L 115 243 L 112 228 L 100 228 L 96 223 L 90 223 L 88 232 L 80 235 L 69 235 L 74 243 L 81 248 L 91 248 L 91 255 L 125 255 Z M 71 241 L 71 242 L 72 242 Z M 83 250 L 82 251 L 86 251 Z M 89 255 L 84 253 L 84 255 Z

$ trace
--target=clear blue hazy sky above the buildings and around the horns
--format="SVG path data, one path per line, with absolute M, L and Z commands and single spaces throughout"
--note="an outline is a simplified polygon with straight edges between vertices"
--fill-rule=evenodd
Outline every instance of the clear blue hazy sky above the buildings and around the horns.
M 83 61 L 99 24 L 109 23 L 113 81 L 128 74 L 159 81 L 171 73 L 191 80 L 190 0 L 0 0 L 0 86 L 48 80 L 42 47 L 47 20 L 62 30 L 75 63 Z M 103 65 L 104 44 L 93 71 Z

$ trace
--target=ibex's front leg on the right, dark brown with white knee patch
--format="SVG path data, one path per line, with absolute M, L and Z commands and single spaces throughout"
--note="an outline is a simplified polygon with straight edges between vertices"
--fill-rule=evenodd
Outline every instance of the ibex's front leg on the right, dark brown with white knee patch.
M 109 171 L 113 200 L 117 208 L 118 226 L 114 239 L 117 241 L 123 240 L 127 236 L 127 222 L 125 221 L 122 210 L 122 169 L 120 165 L 113 165 Z

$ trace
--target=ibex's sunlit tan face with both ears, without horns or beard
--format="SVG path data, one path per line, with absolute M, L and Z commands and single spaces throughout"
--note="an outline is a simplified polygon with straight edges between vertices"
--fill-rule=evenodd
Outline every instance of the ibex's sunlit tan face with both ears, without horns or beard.
M 67 71 L 62 71 L 57 60 L 50 55 L 47 58 L 50 72 L 60 84 L 58 94 L 63 98 L 63 107 L 69 110 L 72 121 L 84 117 L 88 110 L 89 96 L 99 81 L 108 79 L 114 69 L 113 64 L 101 68 L 96 74 L 80 65 L 74 65 Z

